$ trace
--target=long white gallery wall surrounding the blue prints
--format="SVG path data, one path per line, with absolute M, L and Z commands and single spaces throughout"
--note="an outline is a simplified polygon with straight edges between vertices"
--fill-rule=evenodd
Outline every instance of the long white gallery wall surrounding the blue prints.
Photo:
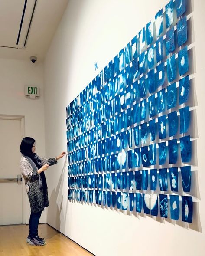
M 168 0 L 70 0 L 45 61 L 46 155 L 66 150 L 65 108 Z M 67 200 L 67 166 L 60 160 L 48 176 L 47 222 L 97 256 L 204 255 L 203 0 L 192 1 L 196 105 L 196 175 L 193 224 L 124 215 Z M 98 61 L 98 71 L 94 63 Z M 64 166 L 63 166 L 64 165 Z

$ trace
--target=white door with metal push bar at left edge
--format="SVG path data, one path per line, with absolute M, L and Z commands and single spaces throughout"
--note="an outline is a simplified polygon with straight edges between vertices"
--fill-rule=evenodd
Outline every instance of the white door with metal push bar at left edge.
M 24 182 L 6 180 L 21 174 L 23 125 L 23 118 L 0 116 L 0 225 L 25 223 Z

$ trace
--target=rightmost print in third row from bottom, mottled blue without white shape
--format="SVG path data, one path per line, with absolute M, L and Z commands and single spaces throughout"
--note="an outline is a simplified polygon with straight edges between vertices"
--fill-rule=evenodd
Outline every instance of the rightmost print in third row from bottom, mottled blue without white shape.
M 185 136 L 180 138 L 180 149 L 181 149 L 181 158 L 183 163 L 191 161 L 192 156 L 192 147 L 190 136 Z

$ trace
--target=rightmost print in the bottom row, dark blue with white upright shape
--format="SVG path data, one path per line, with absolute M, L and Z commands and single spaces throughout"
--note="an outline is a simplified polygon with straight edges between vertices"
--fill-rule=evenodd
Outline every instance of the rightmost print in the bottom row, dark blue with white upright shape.
M 193 200 L 192 197 L 182 196 L 182 221 L 192 223 Z

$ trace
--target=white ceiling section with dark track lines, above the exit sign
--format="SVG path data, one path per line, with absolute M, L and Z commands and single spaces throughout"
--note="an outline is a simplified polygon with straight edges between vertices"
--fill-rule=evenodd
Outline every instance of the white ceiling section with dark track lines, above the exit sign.
M 0 58 L 43 62 L 68 0 L 0 0 Z

